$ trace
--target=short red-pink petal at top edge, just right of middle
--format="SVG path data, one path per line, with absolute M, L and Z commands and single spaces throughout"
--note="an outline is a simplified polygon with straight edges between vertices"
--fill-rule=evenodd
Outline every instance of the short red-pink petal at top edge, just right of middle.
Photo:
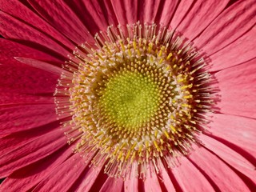
M 138 1 L 138 21 L 142 23 L 153 23 L 158 14 L 158 7 L 160 4 L 160 0 Z

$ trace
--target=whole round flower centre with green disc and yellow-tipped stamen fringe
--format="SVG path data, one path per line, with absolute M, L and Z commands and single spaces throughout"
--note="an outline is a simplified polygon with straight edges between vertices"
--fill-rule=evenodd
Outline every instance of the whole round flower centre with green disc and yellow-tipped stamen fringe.
M 134 165 L 145 177 L 159 159 L 172 166 L 197 140 L 211 102 L 203 63 L 189 42 L 155 24 L 96 34 L 95 45 L 74 51 L 56 89 L 58 114 L 72 117 L 63 123 L 70 142 L 114 177 Z

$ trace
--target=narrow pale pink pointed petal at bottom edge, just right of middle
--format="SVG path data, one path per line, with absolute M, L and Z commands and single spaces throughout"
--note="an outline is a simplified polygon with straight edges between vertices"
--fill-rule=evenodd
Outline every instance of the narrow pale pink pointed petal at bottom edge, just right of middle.
M 146 167 L 146 178 L 144 181 L 145 191 L 162 191 L 160 183 L 158 181 L 158 176 L 155 173 L 153 163 L 149 167 Z

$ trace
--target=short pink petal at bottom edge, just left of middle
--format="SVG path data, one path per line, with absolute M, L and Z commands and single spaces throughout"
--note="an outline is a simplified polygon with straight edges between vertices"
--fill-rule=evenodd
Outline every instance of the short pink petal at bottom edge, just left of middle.
M 121 192 L 123 188 L 123 178 L 107 178 L 100 192 L 115 191 Z

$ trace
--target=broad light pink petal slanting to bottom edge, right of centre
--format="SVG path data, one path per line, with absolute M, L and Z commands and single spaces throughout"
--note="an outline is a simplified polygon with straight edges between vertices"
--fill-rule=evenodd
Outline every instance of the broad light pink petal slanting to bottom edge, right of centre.
M 182 191 L 198 192 L 198 191 L 215 191 L 205 176 L 186 158 L 178 158 L 180 165 L 174 167 L 171 172 L 177 180 Z

